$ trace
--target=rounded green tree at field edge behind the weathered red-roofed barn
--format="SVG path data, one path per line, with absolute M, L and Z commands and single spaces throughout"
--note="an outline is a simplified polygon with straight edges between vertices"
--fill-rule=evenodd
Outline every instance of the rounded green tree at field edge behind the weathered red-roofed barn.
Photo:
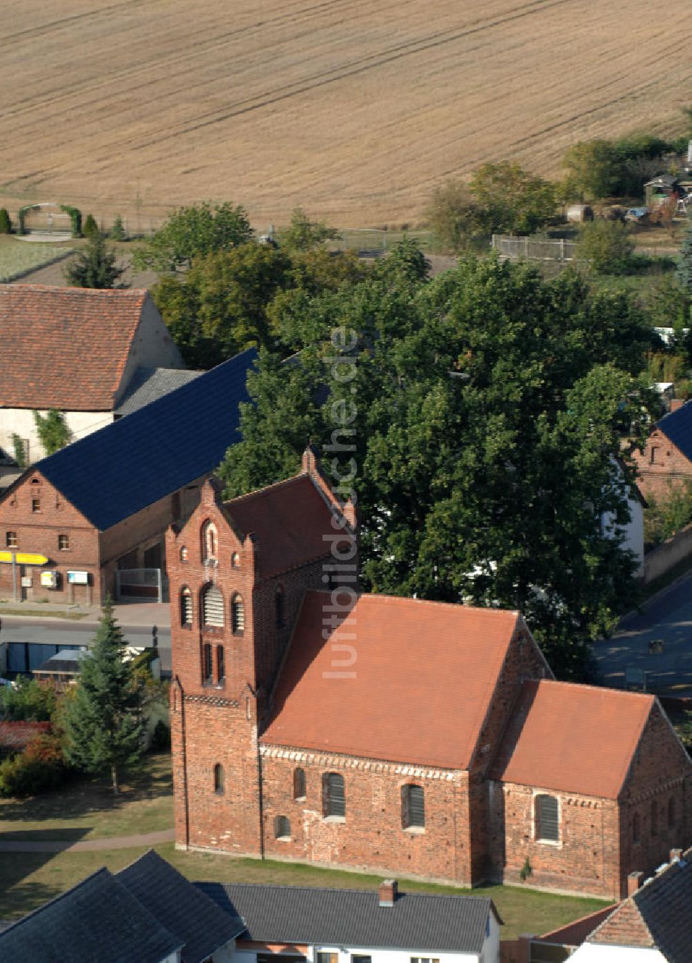
M 214 206 L 204 201 L 170 214 L 151 240 L 135 252 L 132 263 L 138 271 L 177 271 L 189 268 L 198 255 L 230 250 L 251 238 L 243 207 L 228 201 Z

